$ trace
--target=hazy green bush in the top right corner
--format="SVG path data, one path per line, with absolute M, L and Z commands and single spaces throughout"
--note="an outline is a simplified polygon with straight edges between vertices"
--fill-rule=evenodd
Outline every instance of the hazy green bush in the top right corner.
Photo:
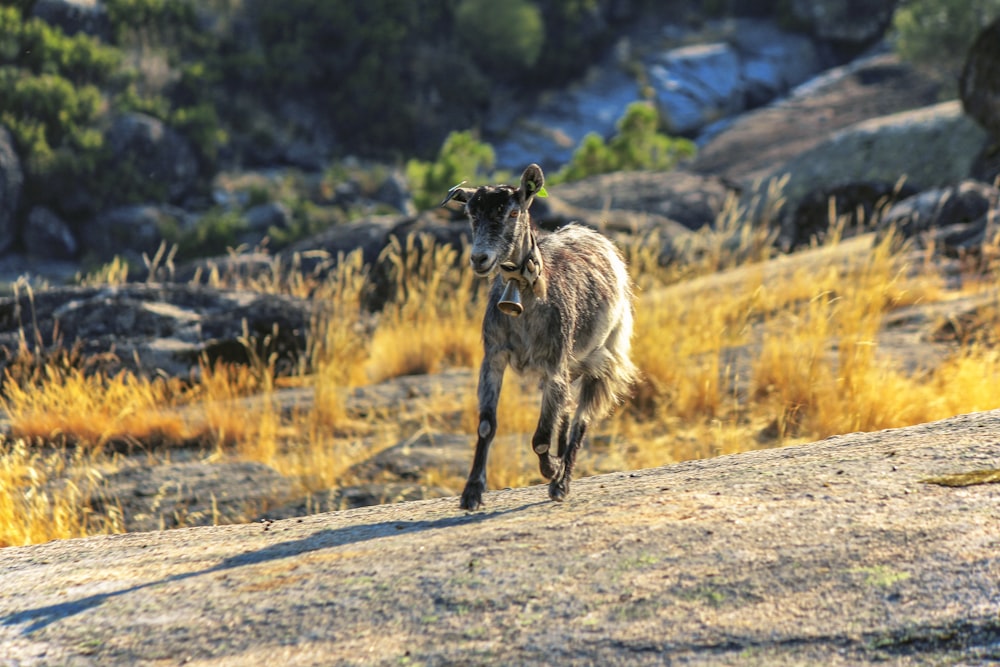
M 1000 16 L 1000 0 L 905 0 L 893 17 L 901 58 L 956 81 L 979 31 Z

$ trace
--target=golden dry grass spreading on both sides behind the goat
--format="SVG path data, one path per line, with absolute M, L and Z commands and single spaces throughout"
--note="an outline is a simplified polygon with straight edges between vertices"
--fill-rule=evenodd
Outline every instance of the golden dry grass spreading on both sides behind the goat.
M 908 264 L 911 255 L 892 252 L 891 238 L 873 249 L 859 245 L 867 239 L 841 241 L 837 224 L 807 261 L 772 259 L 770 235 L 741 229 L 732 206 L 715 231 L 691 241 L 686 262 L 663 268 L 650 244 L 627 249 L 639 287 L 634 357 L 643 381 L 593 433 L 581 474 L 1000 406 L 1000 307 L 983 309 L 975 325 L 994 335 L 956 346 L 937 368 L 905 372 L 880 354 L 878 333 L 892 310 L 946 297 L 933 264 Z M 250 340 L 249 366 L 203 367 L 194 386 L 44 366 L 30 383 L 8 382 L 0 545 L 121 530 L 120 516 L 93 511 L 87 499 L 101 471 L 114 467 L 109 451 L 122 447 L 196 442 L 206 456 L 261 461 L 315 494 L 351 482 L 354 463 L 414 433 L 468 434 L 471 451 L 473 386 L 363 418 L 348 410 L 352 387 L 475 367 L 482 355 L 484 285 L 464 253 L 419 238 L 394 244 L 384 259 L 396 297 L 374 319 L 363 305 L 372 280 L 359 253 L 340 258 L 329 278 L 296 274 L 293 261 L 240 285 L 323 304 L 300 375 L 284 380 L 313 389 L 302 407 L 280 404 L 274 360 L 253 356 L 259 346 Z M 111 267 L 90 279 L 119 274 Z M 992 281 L 979 286 L 994 289 Z M 540 481 L 526 445 L 539 404 L 536 386 L 509 374 L 498 422 L 501 436 L 517 437 L 494 447 L 492 488 Z M 421 481 L 456 492 L 462 484 L 435 470 Z

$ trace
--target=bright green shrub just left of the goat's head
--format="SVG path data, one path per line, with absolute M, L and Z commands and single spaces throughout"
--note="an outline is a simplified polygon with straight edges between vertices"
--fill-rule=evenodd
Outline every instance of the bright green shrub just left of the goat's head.
M 480 142 L 472 132 L 452 132 L 436 161 L 410 160 L 406 164 L 413 202 L 420 210 L 433 208 L 453 185 L 489 178 L 495 163 L 492 146 Z

